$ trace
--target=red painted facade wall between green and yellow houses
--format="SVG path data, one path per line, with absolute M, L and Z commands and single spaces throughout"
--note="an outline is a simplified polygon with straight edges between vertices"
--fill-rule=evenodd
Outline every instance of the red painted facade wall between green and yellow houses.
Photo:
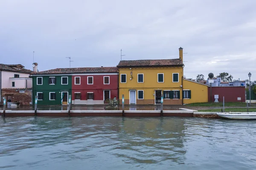
M 109 85 L 104 85 L 103 77 L 109 76 Z M 80 78 L 80 85 L 75 85 L 75 77 Z M 87 85 L 87 77 L 93 77 L 93 85 Z M 75 92 L 81 92 L 81 100 L 87 100 L 87 92 L 93 92 L 94 100 L 103 100 L 103 90 L 110 90 L 110 97 L 118 98 L 118 75 L 76 75 L 72 76 L 72 100 Z

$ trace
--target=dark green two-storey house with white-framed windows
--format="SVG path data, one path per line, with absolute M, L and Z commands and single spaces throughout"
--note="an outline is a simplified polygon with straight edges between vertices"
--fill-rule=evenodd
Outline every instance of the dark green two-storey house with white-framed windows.
M 31 74 L 32 99 L 38 96 L 38 105 L 67 105 L 72 89 L 72 76 L 64 74 L 44 74 L 44 71 Z

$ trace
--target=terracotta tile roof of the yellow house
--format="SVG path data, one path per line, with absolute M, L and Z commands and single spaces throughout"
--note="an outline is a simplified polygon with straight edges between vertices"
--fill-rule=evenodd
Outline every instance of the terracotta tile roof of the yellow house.
M 122 60 L 117 67 L 182 66 L 181 59 L 140 59 Z

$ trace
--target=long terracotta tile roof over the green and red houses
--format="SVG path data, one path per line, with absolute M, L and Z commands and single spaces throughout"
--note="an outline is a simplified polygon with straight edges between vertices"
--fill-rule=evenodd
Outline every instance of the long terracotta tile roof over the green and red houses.
M 32 74 L 77 74 L 77 73 L 117 73 L 116 67 L 81 67 L 81 68 L 55 68 Z

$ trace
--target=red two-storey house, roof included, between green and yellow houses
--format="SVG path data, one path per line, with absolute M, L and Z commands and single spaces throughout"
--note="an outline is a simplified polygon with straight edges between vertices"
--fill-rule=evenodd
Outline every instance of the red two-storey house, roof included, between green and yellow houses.
M 79 68 L 72 74 L 72 104 L 106 104 L 118 99 L 118 70 L 116 67 Z

